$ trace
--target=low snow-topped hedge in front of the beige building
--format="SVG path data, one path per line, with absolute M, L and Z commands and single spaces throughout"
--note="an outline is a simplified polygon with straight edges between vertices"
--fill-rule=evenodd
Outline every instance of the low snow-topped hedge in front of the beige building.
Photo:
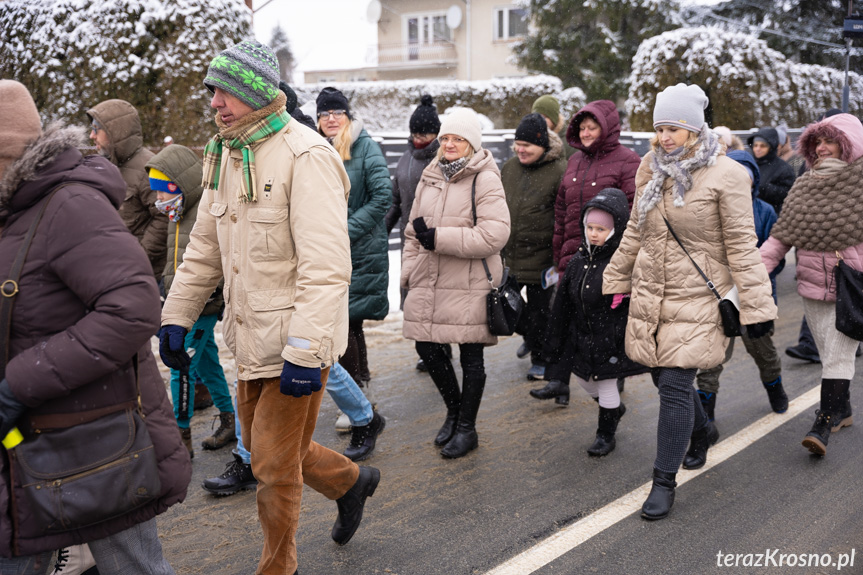
M 527 76 L 482 81 L 401 80 L 396 82 L 343 82 L 293 86 L 300 104 L 314 100 L 325 86 L 341 90 L 370 130 L 407 130 L 420 96 L 431 94 L 438 112 L 453 106 L 473 108 L 488 116 L 497 128 L 515 128 L 531 104 L 544 94 L 560 101 L 561 113 L 569 118 L 586 103 L 580 88 L 563 88 L 554 76 Z

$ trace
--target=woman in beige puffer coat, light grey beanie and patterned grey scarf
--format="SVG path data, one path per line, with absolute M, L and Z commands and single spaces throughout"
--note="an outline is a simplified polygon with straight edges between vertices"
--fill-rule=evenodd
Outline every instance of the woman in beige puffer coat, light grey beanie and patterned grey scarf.
M 750 339 L 770 333 L 776 318 L 756 248 L 749 177 L 704 123 L 707 103 L 694 85 L 677 84 L 657 95 L 657 136 L 635 177 L 626 232 L 603 275 L 603 293 L 631 293 L 626 355 L 654 368 L 659 388 L 657 456 L 653 489 L 641 512 L 645 519 L 668 515 L 681 462 L 684 469 L 702 467 L 708 447 L 719 439 L 692 383 L 698 368 L 722 363 L 728 344 L 717 297 L 671 230 L 719 294 L 737 286 L 740 322 Z

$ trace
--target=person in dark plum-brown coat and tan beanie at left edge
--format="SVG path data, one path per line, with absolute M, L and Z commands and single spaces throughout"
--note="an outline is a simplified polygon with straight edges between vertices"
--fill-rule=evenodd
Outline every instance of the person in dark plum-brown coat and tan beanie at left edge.
M 98 419 L 96 414 L 137 402 L 139 393 L 161 484 L 158 497 L 122 515 L 78 529 L 55 526 L 37 537 L 32 533 L 48 525 L 36 513 L 15 515 L 10 496 L 20 505 L 24 495 L 10 480 L 9 458 L 0 458 L 0 573 L 46 573 L 57 549 L 86 542 L 97 565 L 110 565 L 103 573 L 173 574 L 155 517 L 183 501 L 192 469 L 150 351 L 159 291 L 146 255 L 117 214 L 123 178 L 105 158 L 81 156 L 80 128 L 53 124 L 43 132 L 23 85 L 0 81 L 0 113 L 8 120 L 0 134 L 6 143 L 0 156 L 0 277 L 10 277 L 25 234 L 48 202 L 12 307 L 0 436 L 15 426 L 26 440 L 35 418 L 46 414 L 54 421 Z M 86 449 L 64 446 L 57 458 L 62 454 L 74 466 Z

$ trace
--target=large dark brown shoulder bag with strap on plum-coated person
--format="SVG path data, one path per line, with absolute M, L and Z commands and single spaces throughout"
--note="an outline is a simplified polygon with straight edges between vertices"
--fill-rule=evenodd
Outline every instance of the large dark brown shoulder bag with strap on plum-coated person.
M 10 278 L 0 284 L 0 377 L 9 361 L 12 304 L 24 260 L 59 187 L 44 201 Z M 137 397 L 125 403 L 74 413 L 25 414 L 18 422 L 24 439 L 7 452 L 14 538 L 38 539 L 80 529 L 159 497 L 158 461 L 143 421 L 137 355 L 133 366 Z

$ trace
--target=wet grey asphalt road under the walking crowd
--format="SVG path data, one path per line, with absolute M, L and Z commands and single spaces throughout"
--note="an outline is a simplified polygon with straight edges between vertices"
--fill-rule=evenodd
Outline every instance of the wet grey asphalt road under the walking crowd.
M 793 265 L 779 277 L 777 348 L 796 343 L 802 304 Z M 658 397 L 648 376 L 627 380 L 617 449 L 585 453 L 596 428 L 596 404 L 573 388 L 568 408 L 528 396 L 520 338 L 487 353 L 488 384 L 479 413 L 480 447 L 444 460 L 432 439 L 444 418 L 428 375 L 414 370 L 412 342 L 391 322 L 369 325 L 370 365 L 378 410 L 387 418 L 375 454 L 381 483 L 353 540 L 339 547 L 329 533 L 336 506 L 306 489 L 297 535 L 303 575 L 482 574 L 560 528 L 649 481 L 656 449 Z M 782 353 L 791 399 L 816 387 L 820 366 Z M 863 409 L 860 372 L 852 403 Z M 806 409 L 753 445 L 677 490 L 671 515 L 659 522 L 624 517 L 535 571 L 546 574 L 789 573 L 863 574 L 863 424 L 830 439 L 817 458 L 800 446 L 814 419 Z M 195 442 L 210 433 L 210 408 L 193 420 Z M 722 439 L 770 413 L 755 364 L 737 344 L 722 377 L 717 424 Z M 315 439 L 339 451 L 348 436 L 333 429 L 336 409 L 325 399 Z M 166 556 L 179 574 L 254 573 L 260 527 L 253 492 L 214 498 L 199 485 L 221 473 L 230 455 L 197 450 L 189 496 L 159 518 Z M 709 459 L 709 456 L 708 456 Z M 719 567 L 717 553 L 840 554 L 854 566 Z M 774 558 L 778 555 L 774 555 Z M 757 560 L 755 556 L 751 559 Z M 745 561 L 741 558 L 740 562 Z

